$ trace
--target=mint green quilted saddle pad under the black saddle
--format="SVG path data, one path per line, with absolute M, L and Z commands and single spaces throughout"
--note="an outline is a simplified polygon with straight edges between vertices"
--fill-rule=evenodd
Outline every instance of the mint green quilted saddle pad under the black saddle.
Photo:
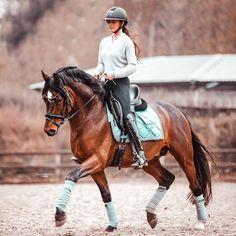
M 113 136 L 119 142 L 121 130 L 107 106 L 106 111 Z M 151 107 L 148 106 L 145 111 L 135 112 L 135 117 L 141 141 L 160 140 L 164 138 L 161 120 Z M 126 142 L 130 142 L 128 135 L 126 135 Z

